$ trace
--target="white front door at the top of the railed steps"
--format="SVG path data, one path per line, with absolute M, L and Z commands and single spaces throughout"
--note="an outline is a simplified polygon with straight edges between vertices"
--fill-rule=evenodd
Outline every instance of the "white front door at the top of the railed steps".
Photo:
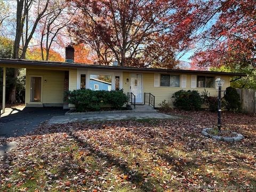
M 131 92 L 135 95 L 135 102 L 142 103 L 142 74 L 131 74 Z

